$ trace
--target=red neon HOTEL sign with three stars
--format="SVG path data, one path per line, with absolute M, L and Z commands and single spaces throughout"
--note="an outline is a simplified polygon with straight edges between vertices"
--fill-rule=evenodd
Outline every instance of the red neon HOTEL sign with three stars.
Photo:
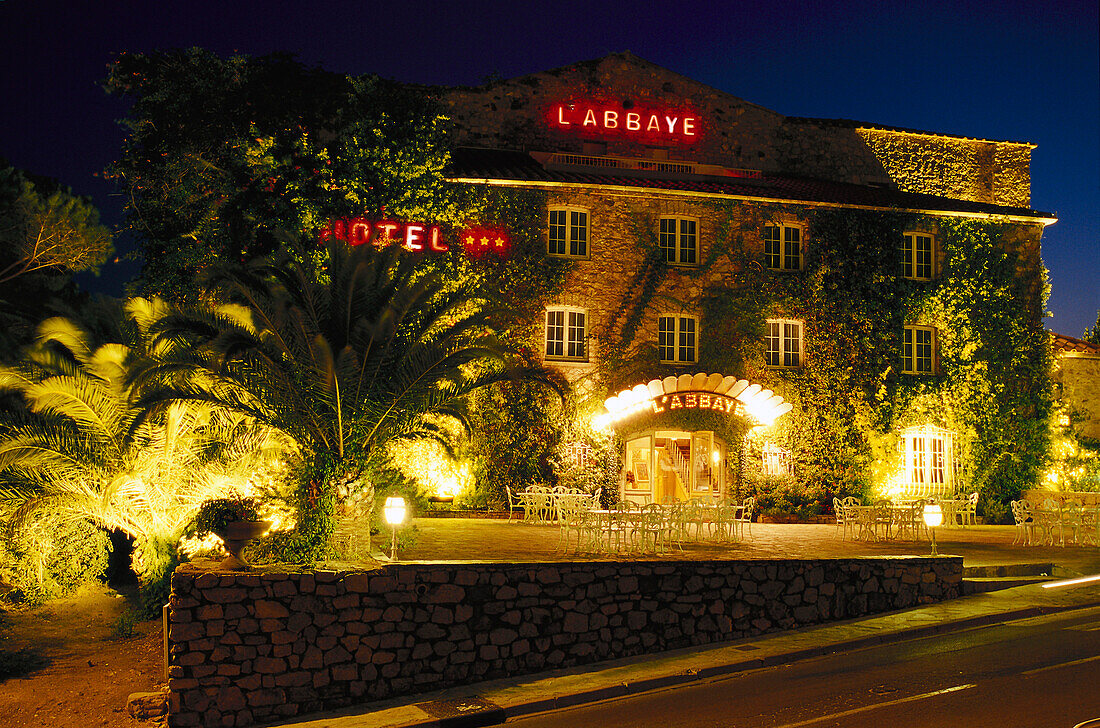
M 342 240 L 349 245 L 366 245 L 377 247 L 402 245 L 414 252 L 447 253 L 451 250 L 443 240 L 440 225 L 422 222 L 403 222 L 398 220 L 370 220 L 367 218 L 341 218 L 330 220 L 317 235 L 317 242 L 323 245 L 330 240 Z M 463 250 L 471 255 L 482 253 L 506 253 L 508 251 L 508 234 L 496 228 L 469 225 L 459 233 Z

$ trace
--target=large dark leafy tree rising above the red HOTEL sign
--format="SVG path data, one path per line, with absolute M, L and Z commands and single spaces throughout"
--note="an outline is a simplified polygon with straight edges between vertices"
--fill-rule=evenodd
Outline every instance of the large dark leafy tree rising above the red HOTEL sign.
M 312 241 L 330 218 L 469 217 L 469 192 L 442 177 L 444 119 L 419 90 L 199 48 L 122 54 L 106 88 L 133 101 L 112 172 L 145 293 L 194 299 L 198 272 Z

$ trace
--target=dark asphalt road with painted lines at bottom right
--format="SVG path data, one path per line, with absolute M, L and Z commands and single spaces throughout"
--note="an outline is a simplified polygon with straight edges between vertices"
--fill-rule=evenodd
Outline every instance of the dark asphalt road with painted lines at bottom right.
M 842 652 L 508 724 L 1072 728 L 1093 718 L 1100 718 L 1100 608 Z

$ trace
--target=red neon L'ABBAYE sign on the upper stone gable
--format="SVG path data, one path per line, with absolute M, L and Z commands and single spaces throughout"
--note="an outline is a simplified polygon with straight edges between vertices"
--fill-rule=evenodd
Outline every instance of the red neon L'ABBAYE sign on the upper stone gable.
M 646 141 L 691 143 L 700 118 L 686 109 L 654 109 L 623 101 L 566 101 L 550 107 L 550 125 L 561 131 Z

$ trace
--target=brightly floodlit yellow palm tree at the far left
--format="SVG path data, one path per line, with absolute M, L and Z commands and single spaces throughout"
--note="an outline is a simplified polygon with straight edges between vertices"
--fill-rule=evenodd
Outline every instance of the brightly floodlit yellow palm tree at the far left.
M 201 402 L 144 416 L 129 375 L 168 353 L 150 334 L 166 312 L 160 301 L 130 300 L 114 326 L 107 317 L 113 335 L 98 346 L 76 322 L 47 319 L 22 364 L 0 369 L 0 391 L 22 402 L 0 420 L 8 528 L 51 512 L 123 531 L 151 599 L 164 596 L 176 543 L 201 503 L 243 488 L 258 462 L 288 446 L 277 432 Z

